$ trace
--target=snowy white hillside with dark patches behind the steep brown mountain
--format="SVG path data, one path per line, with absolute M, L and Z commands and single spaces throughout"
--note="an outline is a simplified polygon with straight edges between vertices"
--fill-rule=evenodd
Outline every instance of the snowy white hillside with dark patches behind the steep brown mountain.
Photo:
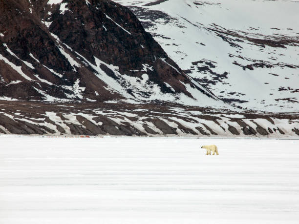
M 115 0 L 185 72 L 226 102 L 299 109 L 299 1 Z

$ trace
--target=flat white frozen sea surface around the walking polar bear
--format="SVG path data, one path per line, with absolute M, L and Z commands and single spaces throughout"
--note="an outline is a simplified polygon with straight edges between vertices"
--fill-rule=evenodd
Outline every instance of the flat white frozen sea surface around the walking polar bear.
M 298 140 L 0 138 L 0 224 L 298 222 Z

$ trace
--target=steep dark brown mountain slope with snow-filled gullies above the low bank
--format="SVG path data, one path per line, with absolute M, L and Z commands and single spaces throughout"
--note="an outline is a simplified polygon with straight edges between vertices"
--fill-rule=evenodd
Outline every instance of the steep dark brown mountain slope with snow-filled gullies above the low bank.
M 0 0 L 2 99 L 174 101 L 202 93 L 213 96 L 118 3 Z

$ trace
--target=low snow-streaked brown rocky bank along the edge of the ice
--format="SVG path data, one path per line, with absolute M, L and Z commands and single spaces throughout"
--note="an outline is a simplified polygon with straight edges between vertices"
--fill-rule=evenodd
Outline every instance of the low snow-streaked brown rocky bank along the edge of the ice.
M 270 122 L 273 121 L 273 122 Z M 0 133 L 299 139 L 299 114 L 248 114 L 177 104 L 1 102 Z

